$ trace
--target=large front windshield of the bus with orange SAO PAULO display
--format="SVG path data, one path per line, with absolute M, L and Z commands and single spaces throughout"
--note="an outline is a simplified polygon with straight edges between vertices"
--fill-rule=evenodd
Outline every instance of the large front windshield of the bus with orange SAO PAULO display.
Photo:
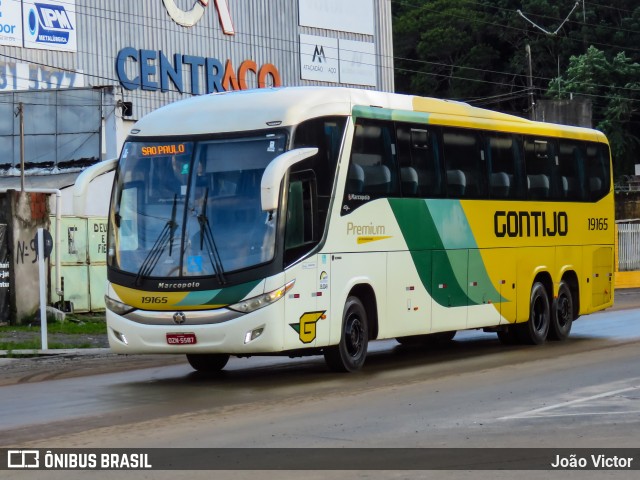
M 284 132 L 223 140 L 130 141 L 113 190 L 109 266 L 147 277 L 214 276 L 270 261 L 275 220 L 260 182 Z

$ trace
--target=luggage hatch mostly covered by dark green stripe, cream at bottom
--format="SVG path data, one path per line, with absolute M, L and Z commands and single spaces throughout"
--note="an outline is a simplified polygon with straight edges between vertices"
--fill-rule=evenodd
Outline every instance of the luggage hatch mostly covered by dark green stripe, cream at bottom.
M 467 268 L 469 251 L 432 252 L 431 331 L 446 332 L 467 327 Z

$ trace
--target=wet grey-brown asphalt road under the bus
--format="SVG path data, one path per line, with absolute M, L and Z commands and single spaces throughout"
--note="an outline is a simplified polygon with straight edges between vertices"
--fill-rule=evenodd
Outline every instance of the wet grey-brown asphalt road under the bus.
M 269 357 L 232 359 L 222 375 L 207 377 L 173 359 L 178 363 L 5 385 L 0 387 L 0 444 L 640 447 L 640 310 L 637 295 L 618 294 L 617 299 L 615 309 L 576 322 L 564 343 L 504 347 L 495 335 L 479 332 L 460 332 L 451 345 L 432 351 L 375 342 L 365 369 L 353 375 L 329 372 L 321 358 Z M 46 473 L 46 478 L 84 478 Z M 139 478 L 211 478 L 204 472 L 153 473 Z M 227 472 L 233 478 L 249 478 L 249 473 Z M 579 478 L 636 478 L 624 471 L 553 473 L 554 478 L 577 478 L 572 475 L 578 473 Z M 34 474 L 11 478 L 39 478 Z M 123 478 L 122 472 L 93 474 Z M 126 478 L 139 474 L 128 472 Z M 270 478 L 289 475 L 275 472 Z M 350 471 L 339 478 L 425 475 Z M 307 478 L 330 476 L 305 473 Z M 549 478 L 549 473 L 525 477 Z M 512 476 L 451 471 L 434 478 Z

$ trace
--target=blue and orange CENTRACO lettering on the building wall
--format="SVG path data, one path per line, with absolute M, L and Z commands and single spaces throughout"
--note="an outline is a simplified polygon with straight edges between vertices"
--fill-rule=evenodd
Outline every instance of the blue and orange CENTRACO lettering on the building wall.
M 189 66 L 188 69 L 183 67 Z M 190 71 L 185 86 L 184 70 Z M 127 90 L 147 90 L 167 92 L 176 90 L 179 93 L 223 92 L 228 90 L 247 90 L 251 88 L 252 79 L 259 88 L 282 85 L 280 72 L 271 63 L 258 67 L 253 60 L 244 60 L 237 73 L 231 60 L 224 65 L 217 58 L 197 57 L 176 53 L 169 59 L 162 51 L 136 50 L 133 47 L 123 48 L 116 59 L 116 74 L 120 84 Z M 205 80 L 204 91 L 200 86 L 201 77 Z

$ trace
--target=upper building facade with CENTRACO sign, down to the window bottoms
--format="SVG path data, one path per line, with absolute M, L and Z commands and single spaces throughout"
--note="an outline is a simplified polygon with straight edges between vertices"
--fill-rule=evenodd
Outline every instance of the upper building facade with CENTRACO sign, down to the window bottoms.
M 393 91 L 388 0 L 3 0 L 0 176 L 113 158 L 181 98 L 318 84 Z

